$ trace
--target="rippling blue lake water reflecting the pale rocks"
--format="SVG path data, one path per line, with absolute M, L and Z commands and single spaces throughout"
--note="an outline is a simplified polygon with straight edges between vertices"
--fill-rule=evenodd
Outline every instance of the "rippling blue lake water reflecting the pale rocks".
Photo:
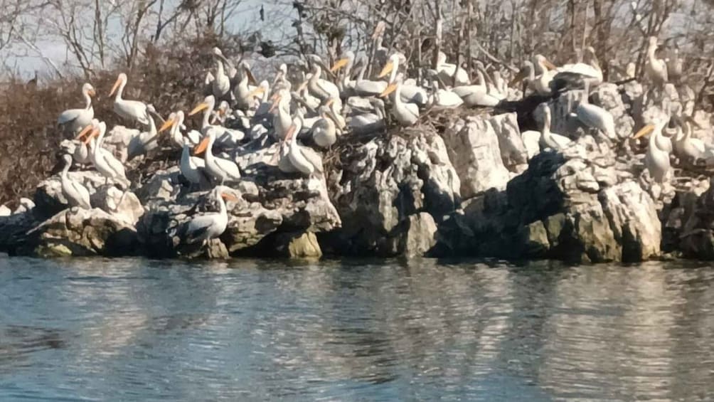
M 0 401 L 714 398 L 708 263 L 0 258 Z

